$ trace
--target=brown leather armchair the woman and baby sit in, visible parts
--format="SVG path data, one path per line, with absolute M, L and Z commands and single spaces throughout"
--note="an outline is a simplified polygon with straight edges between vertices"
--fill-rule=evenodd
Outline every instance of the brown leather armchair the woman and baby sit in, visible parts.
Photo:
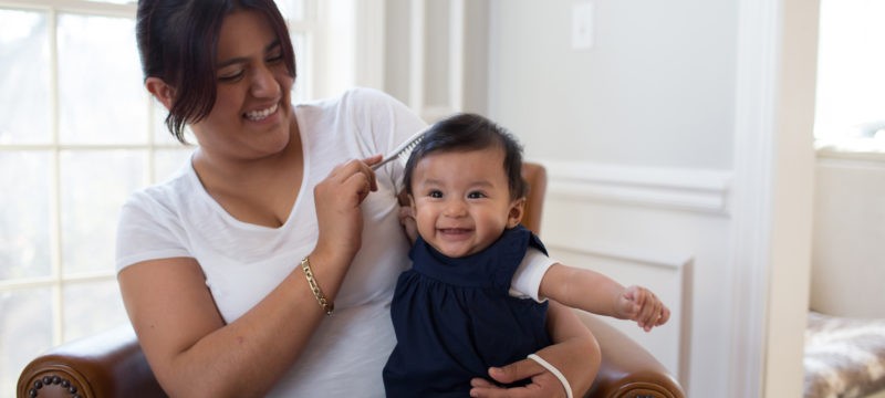
M 523 223 L 539 231 L 546 175 L 527 164 L 531 192 Z M 602 365 L 585 397 L 683 398 L 678 381 L 647 350 L 596 316 L 579 312 L 602 348 Z M 54 347 L 19 377 L 23 397 L 164 397 L 129 325 Z

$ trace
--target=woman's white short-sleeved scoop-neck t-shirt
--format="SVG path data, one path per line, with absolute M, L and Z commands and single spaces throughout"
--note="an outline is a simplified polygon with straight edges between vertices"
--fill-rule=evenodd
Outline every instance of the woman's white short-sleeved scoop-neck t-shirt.
M 277 287 L 316 244 L 313 187 L 345 160 L 385 154 L 425 127 L 405 105 L 368 88 L 301 104 L 294 112 L 304 177 L 283 226 L 235 219 L 208 195 L 188 161 L 171 179 L 134 193 L 123 207 L 117 272 L 147 260 L 194 258 L 221 316 L 233 322 Z M 396 161 L 376 170 L 378 190 L 362 205 L 362 249 L 335 297 L 335 314 L 323 318 L 269 396 L 384 397 L 382 368 L 395 344 L 389 303 L 397 276 L 409 265 L 408 241 L 397 216 L 402 171 Z M 540 283 L 543 272 L 527 274 Z M 530 295 L 537 298 L 534 286 L 528 291 L 534 289 Z

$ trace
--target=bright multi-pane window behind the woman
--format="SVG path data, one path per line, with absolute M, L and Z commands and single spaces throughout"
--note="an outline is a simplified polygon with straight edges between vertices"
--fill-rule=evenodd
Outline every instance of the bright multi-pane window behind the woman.
M 312 1 L 278 3 L 301 60 L 317 27 Z M 41 352 L 127 322 L 114 271 L 118 209 L 192 151 L 142 86 L 135 10 L 0 0 L 2 394 Z M 310 69 L 299 63 L 294 101 L 310 97 Z

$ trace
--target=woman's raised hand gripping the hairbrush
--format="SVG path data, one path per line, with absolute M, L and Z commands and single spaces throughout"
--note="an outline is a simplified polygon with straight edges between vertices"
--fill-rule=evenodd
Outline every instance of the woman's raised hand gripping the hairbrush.
M 341 164 L 313 188 L 320 230 L 314 254 L 350 263 L 360 250 L 363 232 L 360 205 L 369 192 L 377 190 L 372 165 L 381 158 L 375 155 Z

